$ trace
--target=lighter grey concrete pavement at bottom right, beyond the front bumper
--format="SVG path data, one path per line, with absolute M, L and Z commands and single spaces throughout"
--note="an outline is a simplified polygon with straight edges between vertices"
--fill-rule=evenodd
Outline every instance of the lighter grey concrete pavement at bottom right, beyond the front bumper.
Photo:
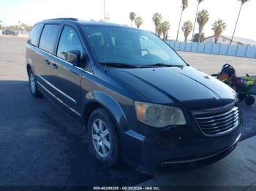
M 241 141 L 238 147 L 217 163 L 192 171 L 157 176 L 138 186 L 164 190 L 256 190 L 256 136 Z

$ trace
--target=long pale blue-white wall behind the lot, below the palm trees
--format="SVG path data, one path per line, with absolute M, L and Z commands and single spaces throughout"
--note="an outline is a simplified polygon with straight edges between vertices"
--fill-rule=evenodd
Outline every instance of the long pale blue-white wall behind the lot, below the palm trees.
M 251 46 L 176 41 L 167 41 L 167 43 L 176 51 L 256 58 L 256 47 Z

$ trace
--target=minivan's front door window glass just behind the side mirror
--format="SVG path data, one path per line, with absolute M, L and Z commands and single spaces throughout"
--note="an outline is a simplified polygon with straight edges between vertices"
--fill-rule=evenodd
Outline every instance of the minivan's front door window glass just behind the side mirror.
M 73 28 L 65 26 L 59 40 L 57 56 L 67 61 L 67 52 L 70 50 L 79 50 L 81 55 L 83 54 L 83 47 L 78 34 Z

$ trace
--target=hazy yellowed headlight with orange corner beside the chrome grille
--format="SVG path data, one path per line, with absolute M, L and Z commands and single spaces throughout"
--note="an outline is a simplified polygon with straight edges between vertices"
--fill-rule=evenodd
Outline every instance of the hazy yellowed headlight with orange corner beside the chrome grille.
M 186 124 L 183 112 L 175 106 L 163 106 L 135 101 L 135 109 L 140 122 L 155 128 Z

